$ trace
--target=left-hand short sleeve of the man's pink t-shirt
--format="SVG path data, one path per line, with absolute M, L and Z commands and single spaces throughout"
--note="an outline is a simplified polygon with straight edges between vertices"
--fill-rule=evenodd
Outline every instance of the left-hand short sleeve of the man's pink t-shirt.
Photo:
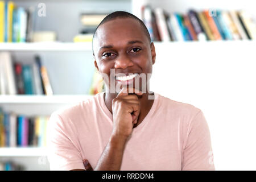
M 79 150 L 57 113 L 52 113 L 47 127 L 47 157 L 51 170 L 85 169 Z

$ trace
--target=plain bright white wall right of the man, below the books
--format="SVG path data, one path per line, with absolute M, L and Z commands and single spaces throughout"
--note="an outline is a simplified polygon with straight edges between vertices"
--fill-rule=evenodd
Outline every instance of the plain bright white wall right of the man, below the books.
M 217 170 L 255 170 L 256 42 L 156 44 L 151 90 L 203 111 Z

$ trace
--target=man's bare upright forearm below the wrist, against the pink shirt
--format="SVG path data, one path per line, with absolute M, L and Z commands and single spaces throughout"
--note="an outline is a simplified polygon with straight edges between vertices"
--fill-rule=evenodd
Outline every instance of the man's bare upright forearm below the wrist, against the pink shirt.
M 121 168 L 126 138 L 110 137 L 94 171 L 119 171 Z

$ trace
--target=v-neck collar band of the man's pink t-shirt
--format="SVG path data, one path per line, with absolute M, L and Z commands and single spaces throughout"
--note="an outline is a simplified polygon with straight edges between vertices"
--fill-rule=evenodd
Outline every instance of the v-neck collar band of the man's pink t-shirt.
M 99 105 L 100 105 L 101 109 L 104 111 L 104 113 L 106 115 L 108 115 L 108 117 L 109 117 L 108 121 L 110 122 L 110 124 L 113 125 L 113 114 L 110 113 L 108 107 L 105 104 L 104 93 L 105 92 L 101 92 L 98 95 L 98 101 L 100 102 Z M 158 105 L 158 102 L 159 102 L 159 94 L 154 92 L 154 95 L 155 95 L 155 100 L 151 106 L 150 111 L 148 111 L 148 113 L 147 113 L 146 117 L 143 119 L 143 121 L 137 127 L 135 127 L 133 129 L 133 132 L 136 132 L 139 129 L 141 129 L 144 125 L 146 125 L 148 120 L 150 120 L 150 118 L 152 117 L 152 114 L 154 113 L 156 106 Z

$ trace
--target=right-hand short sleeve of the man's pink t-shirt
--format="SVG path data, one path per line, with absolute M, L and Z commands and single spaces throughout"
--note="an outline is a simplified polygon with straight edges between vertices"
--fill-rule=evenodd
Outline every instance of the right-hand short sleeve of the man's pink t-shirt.
M 189 125 L 187 142 L 183 151 L 182 170 L 215 170 L 210 131 L 201 110 Z

